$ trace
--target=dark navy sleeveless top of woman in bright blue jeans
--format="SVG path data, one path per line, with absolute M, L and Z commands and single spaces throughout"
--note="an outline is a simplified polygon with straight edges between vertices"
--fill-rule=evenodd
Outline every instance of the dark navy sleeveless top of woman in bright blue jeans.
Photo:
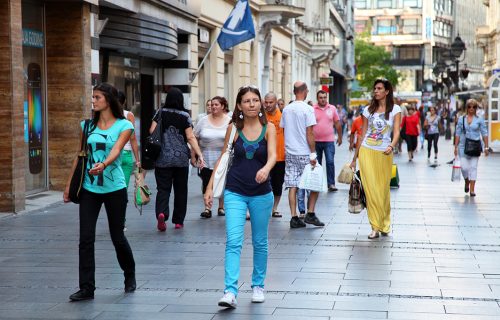
M 260 196 L 271 192 L 268 178 L 264 183 L 257 183 L 257 171 L 267 163 L 266 126 L 257 140 L 249 141 L 238 130 L 239 137 L 234 143 L 234 157 L 227 173 L 226 189 L 243 196 Z

